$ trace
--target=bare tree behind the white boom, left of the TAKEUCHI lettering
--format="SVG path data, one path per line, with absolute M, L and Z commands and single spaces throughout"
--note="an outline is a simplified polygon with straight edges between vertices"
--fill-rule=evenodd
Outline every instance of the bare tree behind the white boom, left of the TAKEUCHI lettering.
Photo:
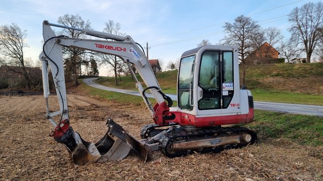
M 64 16 L 60 16 L 57 22 L 73 28 L 91 28 L 90 22 L 88 20 L 84 21 L 79 15 L 66 14 Z M 82 32 L 71 29 L 64 29 L 62 33 L 71 38 L 83 38 L 85 36 Z M 63 53 L 65 55 L 66 72 L 72 72 L 74 85 L 78 85 L 77 77 L 78 74 L 81 74 L 81 65 L 85 64 L 86 61 L 90 61 L 89 58 L 85 56 L 88 52 L 78 48 L 63 48 Z

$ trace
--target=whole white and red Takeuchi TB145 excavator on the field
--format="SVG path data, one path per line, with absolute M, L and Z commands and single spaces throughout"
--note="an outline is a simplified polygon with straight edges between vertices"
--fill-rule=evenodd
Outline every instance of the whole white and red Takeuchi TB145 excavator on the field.
M 52 27 L 79 31 L 86 38 L 57 36 Z M 42 63 L 45 117 L 54 127 L 50 136 L 65 145 L 75 164 L 121 160 L 129 152 L 136 153 L 145 162 L 158 150 L 173 158 L 194 152 L 217 153 L 256 142 L 254 131 L 239 126 L 253 121 L 254 108 L 251 92 L 240 89 L 236 47 L 205 45 L 185 51 L 178 70 L 177 107 L 172 107 L 173 101 L 162 92 L 143 48 L 130 36 L 48 21 L 43 21 L 42 28 L 44 44 L 39 59 Z M 136 68 L 146 88 L 137 79 L 136 87 L 153 120 L 152 124 L 142 127 L 142 139 L 131 135 L 112 119 L 107 119 L 107 132 L 96 143 L 83 140 L 73 130 L 69 120 L 63 47 L 116 55 L 129 66 L 133 75 L 135 73 L 130 66 Z M 60 106 L 60 110 L 55 112 L 49 111 L 48 106 L 49 74 L 53 77 Z M 148 99 L 148 90 L 156 101 L 155 105 Z

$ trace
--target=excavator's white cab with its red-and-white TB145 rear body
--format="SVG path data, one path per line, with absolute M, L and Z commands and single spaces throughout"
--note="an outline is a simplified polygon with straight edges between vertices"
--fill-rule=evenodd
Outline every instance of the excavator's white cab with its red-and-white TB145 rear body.
M 205 45 L 184 52 L 177 95 L 178 112 L 194 118 L 189 125 L 217 126 L 253 120 L 252 96 L 250 91 L 240 89 L 238 52 L 233 46 Z

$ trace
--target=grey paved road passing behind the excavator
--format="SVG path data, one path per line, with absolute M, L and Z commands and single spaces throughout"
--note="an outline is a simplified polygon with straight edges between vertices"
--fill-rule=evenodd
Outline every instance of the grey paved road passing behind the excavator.
M 93 80 L 96 78 L 86 78 L 83 80 L 89 86 L 103 89 L 105 91 L 113 91 L 118 93 L 130 94 L 135 96 L 141 96 L 137 91 L 129 91 L 120 88 L 107 87 L 104 85 L 100 85 L 95 83 Z M 177 95 L 166 94 L 171 97 L 172 100 L 177 101 Z M 151 94 L 147 94 L 147 97 L 152 98 Z M 255 101 L 254 108 L 258 110 L 266 110 L 266 111 L 276 111 L 276 112 L 284 112 L 284 113 L 292 113 L 292 114 L 303 114 L 303 115 L 314 115 L 323 117 L 323 106 L 313 106 L 313 105 L 301 105 L 301 104 L 287 104 L 287 103 L 272 103 L 272 102 L 261 102 Z

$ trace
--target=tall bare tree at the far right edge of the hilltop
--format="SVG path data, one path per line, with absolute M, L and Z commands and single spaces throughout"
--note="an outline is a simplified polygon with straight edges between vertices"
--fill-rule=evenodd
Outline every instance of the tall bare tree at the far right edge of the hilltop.
M 292 24 L 289 32 L 295 42 L 304 45 L 306 61 L 310 62 L 319 41 L 317 28 L 323 25 L 323 4 L 306 3 L 301 8 L 294 8 L 288 16 L 288 21 Z

